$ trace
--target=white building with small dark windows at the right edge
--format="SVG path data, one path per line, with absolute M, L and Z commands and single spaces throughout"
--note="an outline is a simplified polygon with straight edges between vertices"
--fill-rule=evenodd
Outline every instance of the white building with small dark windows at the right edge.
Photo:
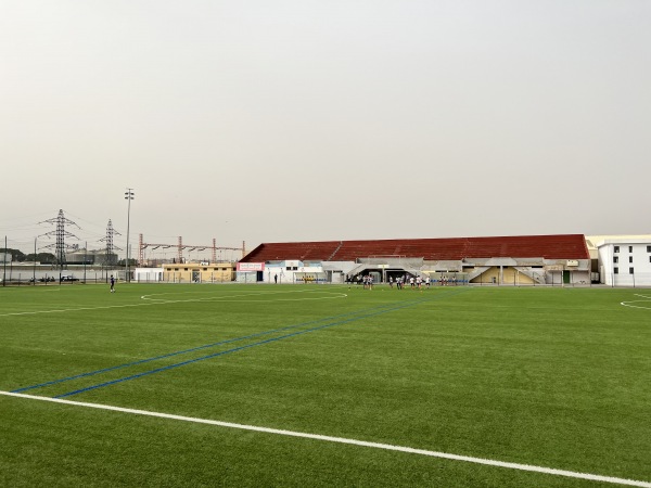
M 651 239 L 612 236 L 595 243 L 601 283 L 610 286 L 651 286 Z

